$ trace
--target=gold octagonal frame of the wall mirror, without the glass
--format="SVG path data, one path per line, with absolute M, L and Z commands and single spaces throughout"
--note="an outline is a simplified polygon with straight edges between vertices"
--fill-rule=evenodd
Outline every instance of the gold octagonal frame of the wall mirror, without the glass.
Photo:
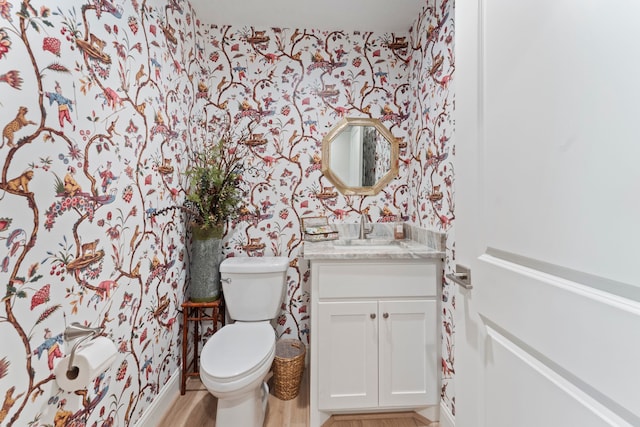
M 373 126 L 387 140 L 391 147 L 389 170 L 372 186 L 349 186 L 331 169 L 331 144 L 351 126 Z M 322 140 L 322 173 L 345 196 L 373 196 L 398 176 L 398 141 L 380 120 L 365 117 L 345 117 L 325 135 Z

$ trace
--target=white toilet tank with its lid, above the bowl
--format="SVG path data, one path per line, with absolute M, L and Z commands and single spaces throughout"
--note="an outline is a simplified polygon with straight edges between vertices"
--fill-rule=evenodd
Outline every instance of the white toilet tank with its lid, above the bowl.
M 239 321 L 278 316 L 287 283 L 287 257 L 231 257 L 220 264 L 229 317 Z

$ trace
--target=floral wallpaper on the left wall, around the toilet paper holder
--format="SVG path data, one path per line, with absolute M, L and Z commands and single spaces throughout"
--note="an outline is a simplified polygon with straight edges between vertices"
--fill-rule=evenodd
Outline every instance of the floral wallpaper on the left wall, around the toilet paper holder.
M 183 197 L 199 31 L 182 1 L 0 0 L 0 425 L 130 425 L 178 369 L 184 221 L 148 213 Z M 76 393 L 71 322 L 118 348 Z

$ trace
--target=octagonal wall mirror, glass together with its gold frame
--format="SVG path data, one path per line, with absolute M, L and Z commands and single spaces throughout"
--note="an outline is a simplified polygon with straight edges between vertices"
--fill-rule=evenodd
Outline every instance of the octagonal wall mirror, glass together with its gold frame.
M 342 194 L 376 194 L 398 175 L 398 143 L 378 119 L 346 117 L 322 141 L 322 172 Z

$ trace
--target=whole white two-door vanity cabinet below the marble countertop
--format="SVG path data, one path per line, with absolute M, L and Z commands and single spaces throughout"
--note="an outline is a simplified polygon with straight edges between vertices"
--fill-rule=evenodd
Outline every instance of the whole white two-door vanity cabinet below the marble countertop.
M 439 259 L 311 261 L 312 427 L 334 413 L 437 407 L 440 268 Z

